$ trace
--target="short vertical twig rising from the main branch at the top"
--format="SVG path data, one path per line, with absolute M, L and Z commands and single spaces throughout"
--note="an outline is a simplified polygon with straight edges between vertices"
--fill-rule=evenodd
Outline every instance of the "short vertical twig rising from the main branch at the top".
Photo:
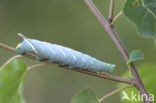
M 114 13 L 114 0 L 110 0 L 108 23 L 112 23 Z

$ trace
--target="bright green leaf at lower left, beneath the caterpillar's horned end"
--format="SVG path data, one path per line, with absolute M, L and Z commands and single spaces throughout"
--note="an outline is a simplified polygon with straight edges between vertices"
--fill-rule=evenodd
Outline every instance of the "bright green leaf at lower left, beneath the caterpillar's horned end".
M 25 63 L 17 59 L 0 68 L 0 103 L 25 103 L 22 86 L 26 70 Z

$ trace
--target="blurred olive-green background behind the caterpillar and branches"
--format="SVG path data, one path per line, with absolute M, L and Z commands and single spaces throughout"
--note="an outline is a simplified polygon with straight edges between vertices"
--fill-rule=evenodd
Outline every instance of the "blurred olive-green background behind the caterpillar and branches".
M 115 14 L 125 1 L 115 2 Z M 98 8 L 108 17 L 109 0 L 96 0 Z M 116 31 L 129 51 L 141 49 L 145 59 L 136 65 L 156 61 L 151 39 L 138 35 L 134 24 L 123 15 L 115 24 Z M 120 53 L 84 0 L 0 0 L 0 42 L 16 47 L 22 40 L 17 33 L 67 46 L 102 61 L 116 64 L 113 74 L 128 70 Z M 16 55 L 0 48 L 0 65 Z M 25 59 L 27 65 L 37 63 Z M 100 79 L 53 66 L 42 66 L 27 72 L 24 96 L 27 103 L 69 103 L 82 89 L 92 88 L 99 97 L 116 89 L 116 82 Z M 119 94 L 103 103 L 119 103 Z

